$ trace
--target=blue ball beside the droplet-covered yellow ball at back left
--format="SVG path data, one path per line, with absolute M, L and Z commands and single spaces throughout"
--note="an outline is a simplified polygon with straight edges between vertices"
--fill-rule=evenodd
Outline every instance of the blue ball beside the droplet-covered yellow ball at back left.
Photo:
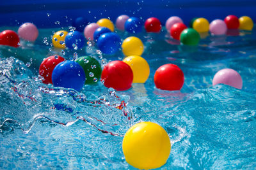
M 68 32 L 65 38 L 65 45 L 70 49 L 83 48 L 85 44 L 84 35 L 79 31 Z

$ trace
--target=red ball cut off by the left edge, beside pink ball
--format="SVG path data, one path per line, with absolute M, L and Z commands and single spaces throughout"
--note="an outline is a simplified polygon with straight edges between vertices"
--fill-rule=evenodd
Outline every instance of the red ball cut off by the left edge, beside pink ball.
M 18 47 L 20 38 L 18 34 L 12 30 L 5 30 L 0 33 L 0 45 L 8 45 Z

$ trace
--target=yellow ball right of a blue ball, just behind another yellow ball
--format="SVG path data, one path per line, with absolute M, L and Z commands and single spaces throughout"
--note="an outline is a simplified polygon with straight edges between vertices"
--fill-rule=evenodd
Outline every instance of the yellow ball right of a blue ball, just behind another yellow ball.
M 122 43 L 122 52 L 125 56 L 141 55 L 144 51 L 144 46 L 140 38 L 130 36 L 125 38 Z

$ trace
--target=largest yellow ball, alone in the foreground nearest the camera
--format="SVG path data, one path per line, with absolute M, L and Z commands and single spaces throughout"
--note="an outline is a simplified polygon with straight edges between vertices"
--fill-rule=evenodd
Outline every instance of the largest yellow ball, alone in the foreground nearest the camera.
M 123 139 L 125 160 L 138 169 L 163 166 L 171 151 L 170 138 L 163 127 L 152 122 L 133 125 Z

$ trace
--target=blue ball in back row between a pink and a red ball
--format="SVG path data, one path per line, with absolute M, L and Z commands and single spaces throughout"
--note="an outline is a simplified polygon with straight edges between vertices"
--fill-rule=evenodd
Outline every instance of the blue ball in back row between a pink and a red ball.
M 139 33 L 142 30 L 142 26 L 143 25 L 140 18 L 131 17 L 125 22 L 124 29 L 125 31 L 131 32 L 131 33 Z

